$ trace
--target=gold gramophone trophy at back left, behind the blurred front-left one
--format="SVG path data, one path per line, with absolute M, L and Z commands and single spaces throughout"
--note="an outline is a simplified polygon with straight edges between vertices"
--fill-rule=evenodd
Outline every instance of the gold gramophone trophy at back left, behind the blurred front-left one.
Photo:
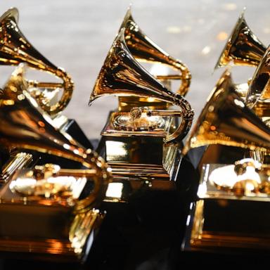
M 92 148 L 90 141 L 78 126 L 75 120 L 69 120 L 61 114 L 70 102 L 74 83 L 70 75 L 53 65 L 39 53 L 34 46 L 25 38 L 18 27 L 18 9 L 10 8 L 0 18 L 0 65 L 27 65 L 41 72 L 49 73 L 63 82 L 37 82 L 37 80 L 27 80 L 27 91 L 37 100 L 41 108 L 49 113 L 53 119 L 53 124 L 58 129 L 68 132 L 76 137 L 86 148 Z M 60 98 L 58 95 L 62 92 Z

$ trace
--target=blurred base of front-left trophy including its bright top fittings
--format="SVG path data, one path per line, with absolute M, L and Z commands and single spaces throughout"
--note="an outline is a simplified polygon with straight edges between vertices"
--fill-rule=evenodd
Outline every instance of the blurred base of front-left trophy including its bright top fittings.
M 95 169 L 48 164 L 17 171 L 0 189 L 0 250 L 84 261 L 104 217 L 89 205 L 96 197 L 91 181 L 99 181 Z

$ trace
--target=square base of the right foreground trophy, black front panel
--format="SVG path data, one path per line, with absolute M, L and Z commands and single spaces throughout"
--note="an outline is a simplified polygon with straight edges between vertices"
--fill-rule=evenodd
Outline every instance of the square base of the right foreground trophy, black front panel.
M 214 169 L 224 166 L 203 166 L 198 201 L 191 204 L 186 222 L 183 250 L 243 255 L 269 252 L 269 195 L 238 196 L 221 190 L 210 175 Z

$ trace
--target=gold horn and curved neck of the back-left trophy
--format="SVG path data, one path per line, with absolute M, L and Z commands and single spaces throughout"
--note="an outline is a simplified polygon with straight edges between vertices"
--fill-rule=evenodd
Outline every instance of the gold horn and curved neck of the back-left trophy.
M 39 105 L 50 115 L 56 114 L 63 110 L 69 103 L 74 88 L 73 82 L 65 70 L 57 68 L 49 60 L 44 58 L 32 44 L 25 38 L 18 28 L 18 9 L 10 8 L 0 18 L 0 64 L 1 65 L 18 65 L 20 63 L 27 63 L 30 68 L 49 72 L 60 79 L 62 83 L 52 82 L 37 82 L 30 81 L 30 86 L 56 89 L 63 88 L 63 96 L 53 105 L 44 102 L 41 96 L 34 96 Z

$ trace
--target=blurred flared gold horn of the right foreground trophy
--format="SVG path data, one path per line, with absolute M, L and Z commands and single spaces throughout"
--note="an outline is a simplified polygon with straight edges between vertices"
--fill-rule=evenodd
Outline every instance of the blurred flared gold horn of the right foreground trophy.
M 226 70 L 210 94 L 184 146 L 191 148 L 221 144 L 250 150 L 270 150 L 270 130 L 236 94 Z

